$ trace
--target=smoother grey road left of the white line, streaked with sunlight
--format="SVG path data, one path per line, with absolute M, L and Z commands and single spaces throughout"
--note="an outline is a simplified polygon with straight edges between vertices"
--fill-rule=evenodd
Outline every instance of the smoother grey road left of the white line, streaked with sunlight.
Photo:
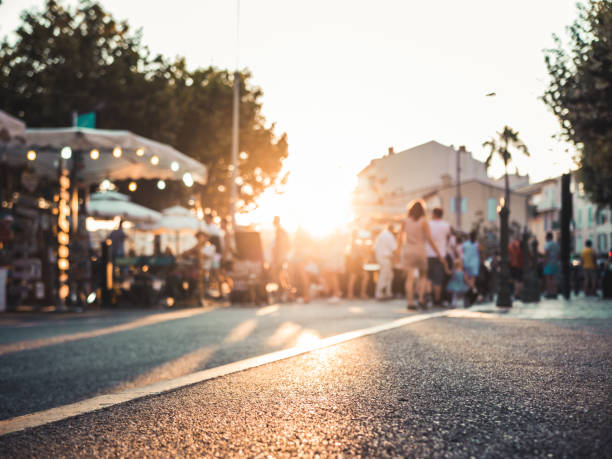
M 76 402 L 126 387 L 295 346 L 304 333 L 327 337 L 405 317 L 401 302 L 284 305 L 267 315 L 258 308 L 227 308 L 129 331 L 0 355 L 0 419 Z M 43 323 L 55 334 L 124 324 L 143 314 Z M 21 339 L 38 338 L 26 327 Z

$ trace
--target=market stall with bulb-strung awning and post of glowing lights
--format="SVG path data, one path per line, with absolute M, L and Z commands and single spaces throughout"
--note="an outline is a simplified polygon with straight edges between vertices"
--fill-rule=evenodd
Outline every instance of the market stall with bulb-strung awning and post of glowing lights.
M 19 182 L 6 190 L 8 199 L 3 205 L 13 215 L 27 210 L 27 202 L 36 206 L 25 233 L 40 240 L 34 258 L 41 264 L 42 277 L 47 275 L 43 288 L 37 286 L 39 291 L 44 290 L 40 294 L 42 302 L 60 306 L 66 302 L 82 303 L 90 296 L 88 291 L 94 288 L 91 279 L 97 275 L 88 272 L 91 261 L 99 262 L 100 258 L 106 264 L 98 274 L 106 276 L 107 286 L 112 286 L 113 269 L 107 266 L 112 260 L 96 253 L 97 247 L 91 245 L 86 231 L 88 212 L 94 217 L 104 214 L 121 219 L 127 207 L 136 211 L 136 204 L 125 199 L 106 204 L 94 202 L 96 199 L 88 196 L 92 185 L 125 179 L 176 180 L 186 187 L 206 183 L 203 164 L 169 145 L 128 131 L 27 129 L 24 138 L 25 148 L 10 145 L 5 149 L 4 165 L 12 175 L 18 175 Z M 29 190 L 27 196 L 24 189 Z M 154 211 L 148 213 L 149 222 L 158 216 L 151 212 Z M 24 258 L 18 252 L 11 255 L 14 263 Z M 31 255 L 26 254 L 26 258 Z M 27 267 L 37 269 L 36 264 Z

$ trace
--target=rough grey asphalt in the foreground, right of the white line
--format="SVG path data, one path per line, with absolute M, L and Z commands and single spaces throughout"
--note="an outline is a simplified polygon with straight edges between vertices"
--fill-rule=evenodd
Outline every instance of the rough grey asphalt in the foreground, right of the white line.
M 611 349 L 433 319 L 0 437 L 0 456 L 612 457 Z

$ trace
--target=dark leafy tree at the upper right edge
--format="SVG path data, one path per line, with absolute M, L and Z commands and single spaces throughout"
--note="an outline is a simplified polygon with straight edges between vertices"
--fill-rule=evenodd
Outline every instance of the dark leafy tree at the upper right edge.
M 555 36 L 546 51 L 550 82 L 543 100 L 557 116 L 561 138 L 578 152 L 578 176 L 591 200 L 612 205 L 612 1 L 578 5 L 569 49 Z

